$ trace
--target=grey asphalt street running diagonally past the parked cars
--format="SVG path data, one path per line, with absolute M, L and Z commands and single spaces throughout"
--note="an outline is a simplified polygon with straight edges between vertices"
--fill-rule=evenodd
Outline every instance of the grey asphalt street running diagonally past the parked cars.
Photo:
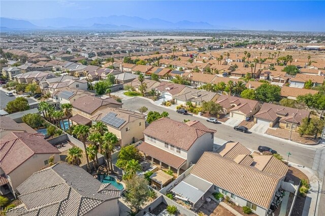
M 316 149 L 299 147 L 291 143 L 287 143 L 278 139 L 272 139 L 263 135 L 256 133 L 242 133 L 235 131 L 232 127 L 223 124 L 213 124 L 207 122 L 201 118 L 193 116 L 184 116 L 176 113 L 175 111 L 169 110 L 167 108 L 156 106 L 146 99 L 139 97 L 130 98 L 123 100 L 123 108 L 138 110 L 141 106 L 148 107 L 149 111 L 157 111 L 159 113 L 167 111 L 169 113 L 169 118 L 176 121 L 183 121 L 184 119 L 189 120 L 200 120 L 204 125 L 211 129 L 217 130 L 215 136 L 225 140 L 239 141 L 245 147 L 257 150 L 258 146 L 268 146 L 276 150 L 280 155 L 286 158 L 286 153 L 290 152 L 289 161 L 304 165 L 306 167 L 312 168 L 314 163 L 314 157 Z M 317 164 L 317 162 L 316 162 Z

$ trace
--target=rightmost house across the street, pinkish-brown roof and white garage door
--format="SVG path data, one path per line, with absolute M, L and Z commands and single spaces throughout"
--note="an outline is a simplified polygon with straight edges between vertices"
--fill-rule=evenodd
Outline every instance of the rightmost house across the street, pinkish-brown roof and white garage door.
M 310 111 L 299 110 L 287 106 L 264 103 L 258 113 L 254 115 L 254 122 L 257 124 L 279 127 L 287 130 L 298 131 L 304 118 L 309 118 Z

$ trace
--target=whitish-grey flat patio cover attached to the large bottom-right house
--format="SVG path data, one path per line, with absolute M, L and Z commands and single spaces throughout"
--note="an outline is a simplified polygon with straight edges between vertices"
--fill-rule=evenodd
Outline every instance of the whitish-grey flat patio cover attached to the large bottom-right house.
M 182 182 L 172 189 L 172 192 L 196 204 L 211 186 L 212 184 L 204 179 L 189 174 Z

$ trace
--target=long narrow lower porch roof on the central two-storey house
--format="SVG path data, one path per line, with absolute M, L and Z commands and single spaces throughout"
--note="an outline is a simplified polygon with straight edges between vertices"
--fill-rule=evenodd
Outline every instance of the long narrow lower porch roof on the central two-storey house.
M 162 150 L 158 147 L 150 145 L 147 142 L 142 142 L 140 145 L 137 146 L 137 149 L 139 149 L 139 151 L 145 153 L 146 155 L 149 155 L 150 157 L 153 157 L 153 158 L 155 158 L 163 163 L 166 163 L 176 169 L 181 167 L 186 161 L 186 159 L 184 159 L 184 158 L 173 155 L 172 153 L 169 153 L 169 152 Z

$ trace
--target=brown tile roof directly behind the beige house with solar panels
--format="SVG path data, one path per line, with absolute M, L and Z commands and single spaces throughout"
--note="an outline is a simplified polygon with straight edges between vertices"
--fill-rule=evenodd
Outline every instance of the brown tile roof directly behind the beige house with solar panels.
M 113 97 L 102 99 L 100 97 L 94 97 L 88 95 L 79 97 L 72 102 L 74 108 L 82 112 L 85 112 L 87 114 L 92 114 L 93 112 L 98 110 L 101 106 L 105 106 L 108 104 L 122 105 L 122 103 L 117 102 Z

